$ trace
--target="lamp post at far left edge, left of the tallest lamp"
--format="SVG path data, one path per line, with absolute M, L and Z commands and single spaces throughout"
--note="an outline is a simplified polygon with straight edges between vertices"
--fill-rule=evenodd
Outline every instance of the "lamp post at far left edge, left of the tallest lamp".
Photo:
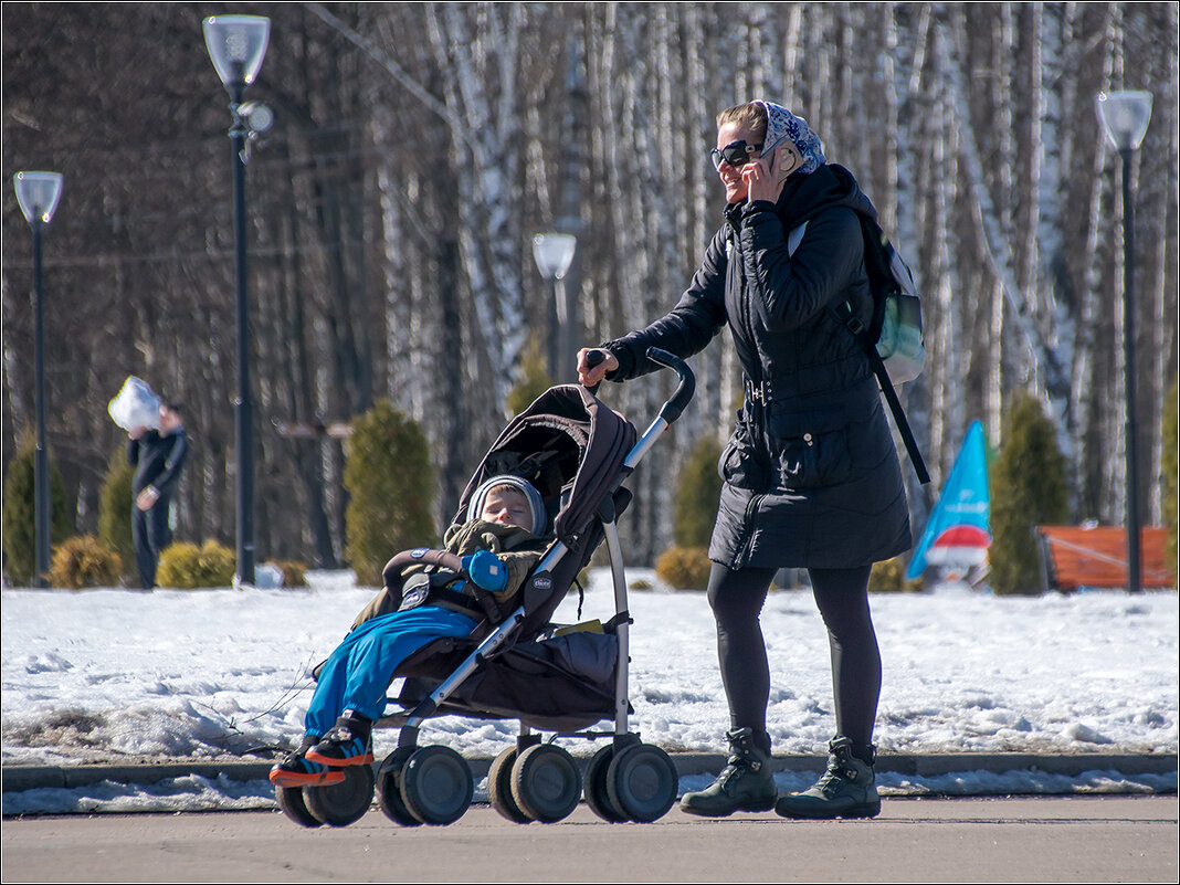
M 46 586 L 50 571 L 50 454 L 45 446 L 45 308 L 41 297 L 41 229 L 53 221 L 61 198 L 58 172 L 17 172 L 17 202 L 33 231 L 33 374 L 35 376 L 37 453 L 33 463 L 33 519 L 37 571 L 33 583 Z

